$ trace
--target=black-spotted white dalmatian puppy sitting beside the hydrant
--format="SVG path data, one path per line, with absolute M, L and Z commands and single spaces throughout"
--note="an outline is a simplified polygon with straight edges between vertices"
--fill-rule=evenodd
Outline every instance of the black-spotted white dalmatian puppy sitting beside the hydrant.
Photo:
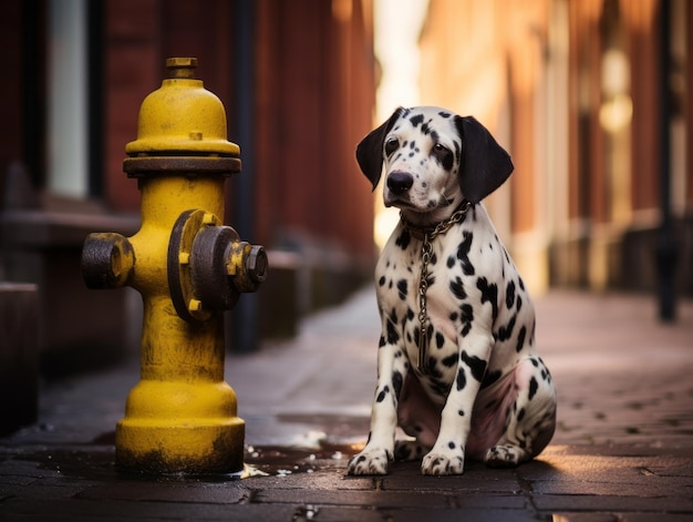
M 350 474 L 422 459 L 428 475 L 465 458 L 515 467 L 556 427 L 556 390 L 536 352 L 529 294 L 482 204 L 513 172 L 474 117 L 397 109 L 356 149 L 401 219 L 375 268 L 382 335 L 371 431 Z M 397 426 L 410 436 L 397 440 Z

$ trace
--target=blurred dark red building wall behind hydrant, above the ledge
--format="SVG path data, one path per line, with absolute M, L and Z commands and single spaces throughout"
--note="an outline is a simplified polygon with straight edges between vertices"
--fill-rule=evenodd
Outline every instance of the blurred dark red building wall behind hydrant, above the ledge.
M 193 55 L 198 78 L 226 106 L 229 140 L 239 142 L 240 112 L 252 120 L 249 143 L 239 145 L 252 165 L 245 175 L 255 183 L 257 240 L 272 245 L 285 231 L 310 231 L 372 256 L 371 198 L 353 176 L 354 144 L 371 127 L 374 104 L 371 0 L 10 0 L 1 9 L 14 79 L 2 88 L 2 170 L 22 160 L 39 188 L 137 211 L 124 146 L 136 136 L 139 104 L 161 85 L 165 59 Z M 73 78 L 55 80 L 55 69 Z M 84 96 L 81 112 L 65 120 L 86 130 L 82 149 L 52 149 L 61 81 Z M 241 84 L 249 85 L 245 98 Z M 73 177 L 85 178 L 61 184 L 51 177 L 63 175 L 54 163 L 72 151 L 86 156 L 68 161 Z

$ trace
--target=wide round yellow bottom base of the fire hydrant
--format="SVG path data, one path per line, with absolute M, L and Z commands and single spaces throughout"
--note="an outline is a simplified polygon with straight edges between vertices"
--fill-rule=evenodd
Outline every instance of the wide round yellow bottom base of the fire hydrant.
M 238 417 L 185 423 L 123 419 L 115 430 L 115 461 L 152 474 L 235 473 L 244 468 L 245 431 Z

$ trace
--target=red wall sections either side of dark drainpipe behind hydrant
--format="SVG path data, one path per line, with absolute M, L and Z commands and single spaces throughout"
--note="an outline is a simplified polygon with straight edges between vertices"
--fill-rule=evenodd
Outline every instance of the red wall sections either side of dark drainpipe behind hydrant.
M 370 257 L 372 198 L 353 158 L 374 104 L 370 1 L 255 4 L 255 172 L 241 174 L 255 176 L 254 240 L 272 246 L 292 232 Z M 116 208 L 138 205 L 136 183 L 122 172 L 124 146 L 135 139 L 142 100 L 161 84 L 165 58 L 196 57 L 198 78 L 234 117 L 232 4 L 198 6 L 108 2 L 105 170 Z

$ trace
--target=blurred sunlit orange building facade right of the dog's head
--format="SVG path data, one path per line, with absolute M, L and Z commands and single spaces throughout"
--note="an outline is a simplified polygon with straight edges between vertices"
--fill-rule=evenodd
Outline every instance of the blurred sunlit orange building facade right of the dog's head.
M 430 0 L 422 101 L 511 153 L 487 204 L 534 288 L 652 290 L 659 266 L 693 295 L 692 27 L 685 0 Z

